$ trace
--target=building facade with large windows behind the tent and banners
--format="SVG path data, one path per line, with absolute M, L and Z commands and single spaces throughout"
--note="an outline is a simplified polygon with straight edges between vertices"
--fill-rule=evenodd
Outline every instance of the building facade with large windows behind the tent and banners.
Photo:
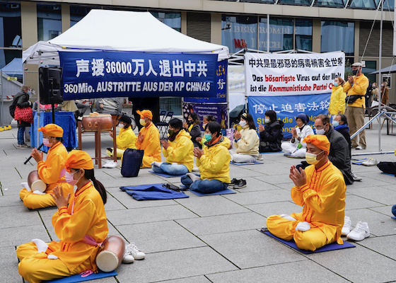
M 100 8 L 149 11 L 171 28 L 226 45 L 231 53 L 243 47 L 270 52 L 342 50 L 347 67 L 365 61 L 363 73 L 380 85 L 378 75 L 368 75 L 379 67 L 379 6 L 380 0 L 0 1 L 0 69 L 38 40 L 56 37 L 92 8 Z M 393 1 L 384 0 L 383 10 L 382 67 L 388 67 L 396 64 L 392 57 Z M 125 34 L 128 36 L 127 31 Z M 384 74 L 382 79 L 388 81 L 390 102 L 395 103 L 395 75 Z M 37 89 L 37 66 L 25 65 L 24 83 Z M 164 110 L 180 112 L 177 98 L 161 101 Z

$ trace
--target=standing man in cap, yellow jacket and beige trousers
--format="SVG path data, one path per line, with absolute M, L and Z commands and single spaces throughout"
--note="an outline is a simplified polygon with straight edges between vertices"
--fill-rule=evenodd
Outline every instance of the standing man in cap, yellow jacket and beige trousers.
M 347 116 L 351 135 L 364 125 L 364 110 L 366 106 L 364 96 L 368 88 L 368 79 L 362 74 L 362 69 L 363 65 L 360 62 L 352 64 L 354 76 L 348 76 L 348 81 L 344 84 L 344 92 L 347 93 L 347 111 L 345 116 Z M 366 149 L 366 129 L 363 129 L 359 134 L 359 144 L 357 138 L 356 136 L 352 139 L 352 148 Z

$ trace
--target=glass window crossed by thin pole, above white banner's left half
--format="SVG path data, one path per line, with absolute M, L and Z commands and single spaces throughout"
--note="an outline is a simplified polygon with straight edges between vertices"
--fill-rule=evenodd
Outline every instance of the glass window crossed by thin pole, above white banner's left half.
M 312 30 L 311 30 L 312 34 Z M 267 51 L 267 17 L 260 18 L 259 50 Z M 293 20 L 269 17 L 269 51 L 293 50 Z

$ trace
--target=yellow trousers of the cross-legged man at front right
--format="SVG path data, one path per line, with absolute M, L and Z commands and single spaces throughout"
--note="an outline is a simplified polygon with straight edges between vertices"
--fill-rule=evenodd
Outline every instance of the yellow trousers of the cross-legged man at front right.
M 299 221 L 298 216 L 294 213 L 291 214 L 291 217 L 297 219 L 297 221 L 290 221 L 279 215 L 269 216 L 267 218 L 267 229 L 278 238 L 283 238 L 286 241 L 293 239 L 301 250 L 316 250 L 335 241 L 335 235 L 328 241 L 325 233 L 318 227 L 312 226 L 312 224 L 308 231 L 296 231 L 297 224 L 303 220 Z

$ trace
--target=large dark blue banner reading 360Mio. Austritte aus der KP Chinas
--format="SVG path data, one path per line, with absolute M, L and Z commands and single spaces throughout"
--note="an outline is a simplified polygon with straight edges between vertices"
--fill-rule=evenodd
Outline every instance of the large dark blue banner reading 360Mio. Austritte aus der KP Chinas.
M 217 54 L 59 51 L 64 100 L 215 97 Z

